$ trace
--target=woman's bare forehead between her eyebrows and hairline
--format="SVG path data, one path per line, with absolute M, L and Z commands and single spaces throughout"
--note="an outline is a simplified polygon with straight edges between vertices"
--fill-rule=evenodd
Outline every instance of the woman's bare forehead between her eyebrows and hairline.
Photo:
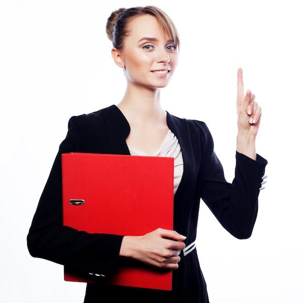
M 143 37 L 156 38 L 168 40 L 166 33 L 163 32 L 162 27 L 156 17 L 152 15 L 138 15 L 129 22 L 129 33 L 126 37 L 132 41 L 138 41 Z

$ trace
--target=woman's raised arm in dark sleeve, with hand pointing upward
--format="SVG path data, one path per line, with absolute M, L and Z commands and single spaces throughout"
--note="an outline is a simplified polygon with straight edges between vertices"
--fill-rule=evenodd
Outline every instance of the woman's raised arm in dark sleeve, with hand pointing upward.
M 231 184 L 225 181 L 223 167 L 213 152 L 212 137 L 207 132 L 201 197 L 227 231 L 244 239 L 250 237 L 256 222 L 259 188 L 267 161 L 256 153 L 261 108 L 251 91 L 244 96 L 242 69 L 238 70 L 237 113 L 235 178 Z

